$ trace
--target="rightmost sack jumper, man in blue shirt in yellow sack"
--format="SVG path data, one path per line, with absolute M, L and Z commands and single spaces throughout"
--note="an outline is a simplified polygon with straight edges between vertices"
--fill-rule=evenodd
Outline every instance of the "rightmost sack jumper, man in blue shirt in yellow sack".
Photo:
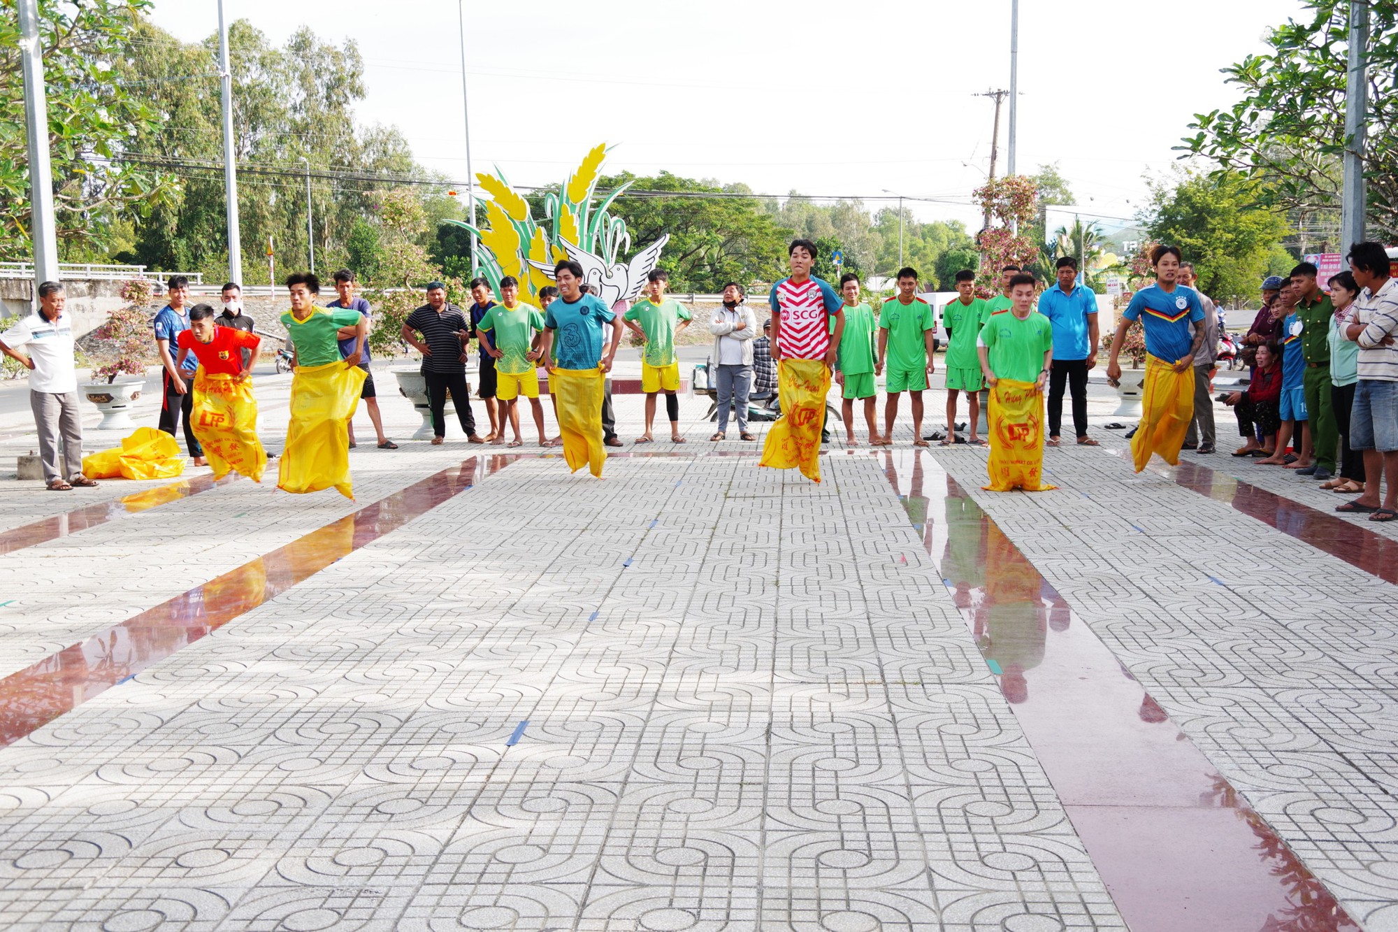
M 1127 329 L 1139 320 L 1145 329 L 1146 358 L 1141 424 L 1131 438 L 1131 459 L 1138 473 L 1151 462 L 1151 453 L 1159 453 L 1165 462 L 1177 466 L 1180 446 L 1194 420 L 1194 354 L 1204 341 L 1206 327 L 1198 291 L 1177 284 L 1180 259 L 1176 246 L 1152 250 L 1156 283 L 1137 291 L 1121 313 L 1107 360 L 1107 379 L 1117 385 L 1121 381 L 1117 354 L 1127 339 Z

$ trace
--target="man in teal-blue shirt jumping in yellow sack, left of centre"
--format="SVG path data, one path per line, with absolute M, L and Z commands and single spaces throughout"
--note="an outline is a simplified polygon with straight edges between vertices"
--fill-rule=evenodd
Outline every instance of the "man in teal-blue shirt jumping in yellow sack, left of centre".
M 621 319 L 601 298 L 583 294 L 583 266 L 565 259 L 554 266 L 558 298 L 544 312 L 544 360 L 549 392 L 558 400 L 558 428 L 563 435 L 563 460 L 577 472 L 583 466 L 603 477 L 607 446 L 603 442 L 603 395 L 611 372 Z M 611 341 L 603 351 L 603 337 Z

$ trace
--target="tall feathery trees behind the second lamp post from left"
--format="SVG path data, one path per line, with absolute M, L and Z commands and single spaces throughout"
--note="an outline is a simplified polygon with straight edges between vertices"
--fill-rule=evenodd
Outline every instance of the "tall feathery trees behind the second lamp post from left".
M 363 98 L 363 60 L 354 42 L 330 45 L 310 29 L 298 29 L 274 48 L 246 20 L 229 25 L 233 69 L 235 155 L 239 162 L 277 165 L 288 175 L 240 172 L 238 179 L 243 273 L 266 283 L 259 262 L 271 236 L 277 267 L 303 267 L 306 242 L 306 181 L 316 172 L 397 172 L 418 175 L 407 143 L 397 130 L 359 129 L 354 105 Z M 140 20 L 129 31 L 117 73 L 130 92 L 158 116 L 138 126 L 129 150 L 143 162 L 196 161 L 182 165 L 176 199 L 157 207 L 136 228 L 131 257 L 157 269 L 226 270 L 226 224 L 222 176 L 221 90 L 218 41 L 183 43 Z M 356 220 L 373 211 L 373 192 L 359 182 L 312 178 L 310 206 L 317 271 L 348 257 Z M 362 234 L 362 230 L 361 230 Z M 426 241 L 425 228 L 419 232 Z M 361 256 L 372 249 L 358 243 Z M 365 252 L 368 249 L 368 252 Z M 329 262 L 327 262 L 329 260 Z M 365 270 L 358 270 L 363 273 Z

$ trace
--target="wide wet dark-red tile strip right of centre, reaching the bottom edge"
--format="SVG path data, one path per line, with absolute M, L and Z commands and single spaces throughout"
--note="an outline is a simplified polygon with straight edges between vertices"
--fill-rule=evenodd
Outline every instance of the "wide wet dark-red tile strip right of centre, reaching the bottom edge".
M 930 453 L 874 456 L 1134 932 L 1359 928 Z

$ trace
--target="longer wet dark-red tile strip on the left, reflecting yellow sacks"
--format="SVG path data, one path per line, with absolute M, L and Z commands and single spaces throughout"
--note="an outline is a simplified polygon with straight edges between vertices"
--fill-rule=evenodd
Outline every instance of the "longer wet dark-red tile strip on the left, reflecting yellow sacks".
M 401 528 L 516 459 L 510 455 L 473 456 L 7 676 L 0 680 L 0 747 Z

